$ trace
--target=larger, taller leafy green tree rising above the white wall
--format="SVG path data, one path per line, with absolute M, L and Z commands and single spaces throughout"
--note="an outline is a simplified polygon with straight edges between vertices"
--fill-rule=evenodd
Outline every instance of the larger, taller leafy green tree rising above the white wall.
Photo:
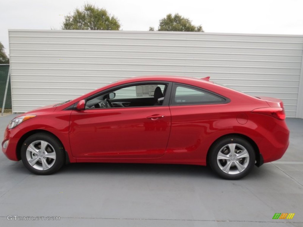
M 76 8 L 72 15 L 65 16 L 62 25 L 65 30 L 119 30 L 120 27 L 114 15 L 89 3 L 82 9 Z

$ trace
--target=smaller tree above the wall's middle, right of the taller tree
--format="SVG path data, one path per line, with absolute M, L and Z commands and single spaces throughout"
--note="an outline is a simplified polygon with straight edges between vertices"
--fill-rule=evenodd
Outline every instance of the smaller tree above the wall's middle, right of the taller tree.
M 149 31 L 155 31 L 154 27 L 149 27 Z M 191 20 L 182 17 L 176 13 L 166 15 L 159 21 L 158 31 L 198 31 L 204 32 L 201 25 L 195 26 L 191 24 Z

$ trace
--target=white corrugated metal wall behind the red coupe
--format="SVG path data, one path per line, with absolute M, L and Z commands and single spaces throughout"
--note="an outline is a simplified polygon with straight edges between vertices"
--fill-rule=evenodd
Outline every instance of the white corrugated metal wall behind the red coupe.
M 288 117 L 303 118 L 302 35 L 9 30 L 9 45 L 15 113 L 123 78 L 165 74 L 210 76 L 281 98 Z

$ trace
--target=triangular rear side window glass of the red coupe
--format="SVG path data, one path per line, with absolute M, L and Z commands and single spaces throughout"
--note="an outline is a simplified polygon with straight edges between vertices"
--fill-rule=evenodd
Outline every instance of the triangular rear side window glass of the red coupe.
M 218 104 L 226 102 L 220 95 L 179 84 L 175 84 L 173 94 L 172 105 Z

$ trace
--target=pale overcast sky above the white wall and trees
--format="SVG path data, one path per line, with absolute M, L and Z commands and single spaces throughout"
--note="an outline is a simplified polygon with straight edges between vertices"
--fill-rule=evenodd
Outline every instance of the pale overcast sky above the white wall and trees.
M 115 15 L 124 31 L 148 31 L 179 13 L 205 32 L 303 35 L 303 0 L 0 0 L 0 41 L 8 29 L 60 29 L 64 16 L 85 2 Z

